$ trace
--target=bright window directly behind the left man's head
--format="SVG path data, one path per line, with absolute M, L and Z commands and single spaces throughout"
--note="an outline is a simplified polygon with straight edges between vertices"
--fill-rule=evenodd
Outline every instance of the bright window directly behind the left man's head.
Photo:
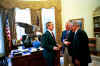
M 42 8 L 42 25 L 43 25 L 43 32 L 46 31 L 46 23 L 48 21 L 53 22 L 54 24 L 54 30 L 53 32 L 55 33 L 56 36 L 56 29 L 55 29 L 55 8 Z

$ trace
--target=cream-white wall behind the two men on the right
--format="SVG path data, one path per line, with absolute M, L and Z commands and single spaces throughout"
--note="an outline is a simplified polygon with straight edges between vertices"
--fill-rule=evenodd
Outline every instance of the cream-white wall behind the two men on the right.
M 100 6 L 100 0 L 61 0 L 62 30 L 68 19 L 84 18 L 84 30 L 89 37 L 94 37 L 93 11 Z

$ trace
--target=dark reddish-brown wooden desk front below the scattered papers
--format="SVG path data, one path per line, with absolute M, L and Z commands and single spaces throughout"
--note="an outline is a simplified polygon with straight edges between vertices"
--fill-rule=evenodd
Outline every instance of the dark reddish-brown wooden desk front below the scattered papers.
M 57 51 L 55 66 L 60 66 L 60 51 Z M 42 51 L 34 52 L 26 56 L 12 58 L 12 66 L 47 66 Z

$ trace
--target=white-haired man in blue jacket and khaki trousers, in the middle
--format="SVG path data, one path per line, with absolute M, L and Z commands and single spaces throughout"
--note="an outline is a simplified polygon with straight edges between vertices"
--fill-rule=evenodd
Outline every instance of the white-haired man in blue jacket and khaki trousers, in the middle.
M 62 32 L 61 41 L 64 46 L 64 66 L 69 66 L 69 64 L 72 64 L 71 40 L 73 38 L 73 32 L 71 31 L 72 24 L 70 21 L 66 22 L 65 28 L 66 30 Z

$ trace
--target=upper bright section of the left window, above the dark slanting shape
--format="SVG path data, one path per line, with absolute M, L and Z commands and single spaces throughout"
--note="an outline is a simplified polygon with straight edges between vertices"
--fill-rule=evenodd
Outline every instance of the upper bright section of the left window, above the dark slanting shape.
M 30 9 L 15 9 L 15 22 L 31 24 L 31 13 Z

